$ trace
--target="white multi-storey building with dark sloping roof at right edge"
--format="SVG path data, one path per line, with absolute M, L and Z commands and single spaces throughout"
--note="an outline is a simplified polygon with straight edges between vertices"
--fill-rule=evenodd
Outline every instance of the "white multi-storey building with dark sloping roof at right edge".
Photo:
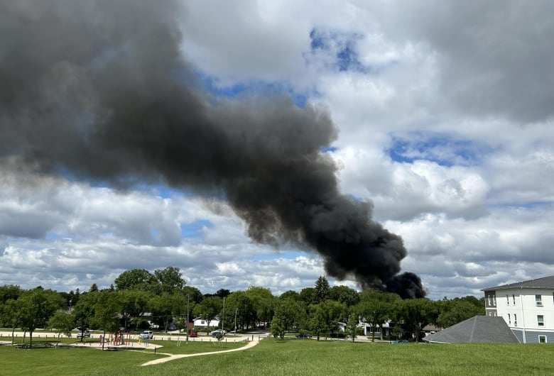
M 487 316 L 501 316 L 521 343 L 554 343 L 554 275 L 482 289 Z

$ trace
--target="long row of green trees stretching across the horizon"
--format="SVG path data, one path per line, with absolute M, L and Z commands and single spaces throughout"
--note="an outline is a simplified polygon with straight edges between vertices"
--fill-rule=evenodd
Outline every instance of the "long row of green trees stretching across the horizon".
M 330 287 L 325 277 L 319 277 L 313 287 L 289 290 L 279 297 L 266 287 L 255 286 L 202 294 L 186 284 L 178 267 L 126 270 L 108 289 L 92 284 L 87 292 L 0 287 L 0 326 L 11 328 L 12 338 L 13 331 L 21 328 L 31 345 L 37 328 L 52 328 L 67 336 L 75 328 L 116 333 L 120 328 L 138 331 L 154 325 L 167 332 L 173 325 L 188 328 L 187 319 L 199 316 L 208 327 L 217 318 L 230 331 L 271 325 L 273 336 L 281 338 L 287 331 L 298 331 L 320 339 L 337 333 L 342 322 L 344 332 L 354 339 L 360 322 L 373 333 L 387 322 L 394 335 L 418 341 L 427 324 L 447 327 L 479 314 L 484 314 L 484 302 L 472 296 L 436 302 L 403 300 L 374 289 L 357 292 L 347 286 Z

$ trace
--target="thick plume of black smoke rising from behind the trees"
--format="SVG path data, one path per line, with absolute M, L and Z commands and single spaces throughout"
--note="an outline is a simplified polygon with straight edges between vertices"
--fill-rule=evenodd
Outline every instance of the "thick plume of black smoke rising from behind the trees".
M 416 275 L 398 275 L 401 238 L 338 191 L 320 153 L 337 137 L 325 109 L 202 93 L 179 13 L 171 1 L 1 0 L 0 157 L 217 194 L 253 240 L 317 250 L 334 277 L 423 297 Z

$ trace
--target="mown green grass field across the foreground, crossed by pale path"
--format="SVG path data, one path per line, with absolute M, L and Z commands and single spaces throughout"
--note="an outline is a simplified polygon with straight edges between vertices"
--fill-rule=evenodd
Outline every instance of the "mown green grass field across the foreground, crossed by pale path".
M 219 350 L 213 343 L 160 343 L 164 347 L 158 352 L 163 353 Z M 236 346 L 227 343 L 223 350 Z M 249 350 L 140 366 L 160 356 L 151 351 L 0 346 L 0 375 L 554 375 L 554 346 L 549 344 L 266 340 Z

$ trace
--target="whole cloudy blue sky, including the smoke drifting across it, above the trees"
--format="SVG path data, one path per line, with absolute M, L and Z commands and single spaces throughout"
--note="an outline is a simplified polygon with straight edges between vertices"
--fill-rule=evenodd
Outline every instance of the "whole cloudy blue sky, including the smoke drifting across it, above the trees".
M 551 1 L 109 3 L 0 1 L 0 284 L 554 274 Z M 287 194 L 350 209 L 299 224 Z M 403 248 L 315 249 L 354 217 Z

